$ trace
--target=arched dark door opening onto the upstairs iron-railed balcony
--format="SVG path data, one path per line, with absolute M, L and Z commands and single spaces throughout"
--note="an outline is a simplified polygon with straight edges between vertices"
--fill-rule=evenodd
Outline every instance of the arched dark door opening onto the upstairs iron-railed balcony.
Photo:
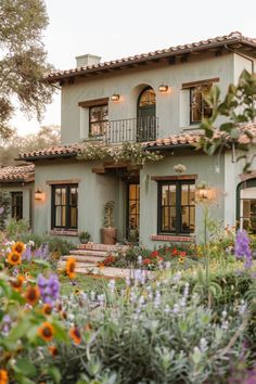
M 156 139 L 155 91 L 151 87 L 142 90 L 138 98 L 137 141 Z

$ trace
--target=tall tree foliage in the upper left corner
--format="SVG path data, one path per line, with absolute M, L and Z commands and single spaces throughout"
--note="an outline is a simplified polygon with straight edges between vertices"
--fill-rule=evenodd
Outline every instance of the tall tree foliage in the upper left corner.
M 43 0 L 0 0 L 0 136 L 7 138 L 16 105 L 40 120 L 53 88 L 43 80 L 51 69 L 41 41 Z

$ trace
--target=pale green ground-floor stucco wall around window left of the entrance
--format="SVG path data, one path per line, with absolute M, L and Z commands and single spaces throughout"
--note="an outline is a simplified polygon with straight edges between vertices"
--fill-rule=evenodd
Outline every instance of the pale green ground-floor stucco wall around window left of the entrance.
M 115 201 L 115 225 L 119 229 L 118 236 L 123 239 L 124 199 L 119 191 L 123 183 L 113 176 L 100 176 L 91 171 L 91 167 L 98 164 L 94 162 L 82 163 L 67 159 L 57 163 L 44 162 L 36 166 L 36 188 L 44 192 L 44 200 L 35 201 L 35 232 L 46 234 L 51 229 L 51 185 L 48 181 L 79 180 L 78 181 L 78 231 L 87 230 L 93 242 L 101 242 L 100 228 L 103 225 L 104 204 Z M 66 236 L 65 236 L 66 238 Z M 67 238 L 68 239 L 68 238 Z M 69 238 L 77 241 L 77 238 Z

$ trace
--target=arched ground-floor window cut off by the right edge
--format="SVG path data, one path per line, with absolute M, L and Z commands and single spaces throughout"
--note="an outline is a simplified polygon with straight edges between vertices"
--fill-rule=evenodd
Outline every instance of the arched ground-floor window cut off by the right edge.
M 236 219 L 240 228 L 256 233 L 256 179 L 241 182 L 236 196 Z

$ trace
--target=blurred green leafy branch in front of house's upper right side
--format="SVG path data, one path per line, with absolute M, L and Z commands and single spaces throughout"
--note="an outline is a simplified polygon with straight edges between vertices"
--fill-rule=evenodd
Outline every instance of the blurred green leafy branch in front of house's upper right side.
M 207 104 L 213 108 L 209 118 L 204 118 L 201 128 L 204 130 L 197 149 L 203 149 L 212 155 L 227 148 L 243 152 L 239 158 L 245 159 L 244 170 L 248 170 L 253 158 L 248 150 L 255 143 L 255 136 L 249 124 L 256 123 L 256 74 L 243 71 L 238 85 L 231 84 L 223 100 L 220 100 L 220 90 L 213 87 L 208 94 L 204 94 Z M 225 123 L 218 125 L 217 118 L 225 117 Z

